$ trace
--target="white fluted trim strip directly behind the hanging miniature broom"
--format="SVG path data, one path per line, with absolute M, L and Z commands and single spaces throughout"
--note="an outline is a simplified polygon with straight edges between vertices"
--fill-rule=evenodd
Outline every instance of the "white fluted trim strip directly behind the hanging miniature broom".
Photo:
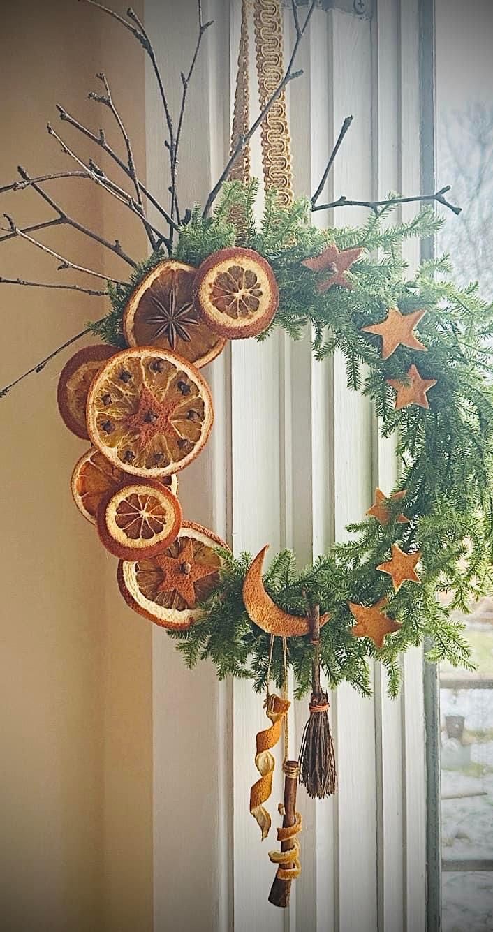
M 296 193 L 300 194 L 315 190 L 333 144 L 327 97 L 327 87 L 332 82 L 328 29 L 327 16 L 315 11 L 297 62 L 304 69 L 304 77 L 290 87 L 294 181 Z M 314 214 L 314 221 L 321 226 L 325 219 L 320 213 Z M 301 342 L 290 346 L 290 371 L 286 393 L 291 401 L 293 481 L 291 536 L 286 542 L 294 547 L 302 565 L 322 554 L 334 540 L 333 365 L 313 360 L 307 333 Z M 307 717 L 305 699 L 295 704 L 298 744 Z M 333 929 L 335 802 L 315 802 L 300 791 L 298 807 L 304 826 L 303 870 L 294 887 L 295 912 L 292 908 L 290 928 L 304 932 Z

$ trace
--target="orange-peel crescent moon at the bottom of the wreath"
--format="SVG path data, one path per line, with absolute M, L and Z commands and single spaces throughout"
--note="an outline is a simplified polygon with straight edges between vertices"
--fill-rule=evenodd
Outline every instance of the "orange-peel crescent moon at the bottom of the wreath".
M 251 620 L 258 624 L 263 631 L 276 637 L 301 637 L 309 635 L 311 628 L 305 615 L 290 615 L 280 609 L 267 595 L 262 580 L 264 558 L 267 554 L 268 543 L 255 556 L 252 566 L 243 581 L 243 602 Z M 320 624 L 328 622 L 330 615 L 321 616 Z

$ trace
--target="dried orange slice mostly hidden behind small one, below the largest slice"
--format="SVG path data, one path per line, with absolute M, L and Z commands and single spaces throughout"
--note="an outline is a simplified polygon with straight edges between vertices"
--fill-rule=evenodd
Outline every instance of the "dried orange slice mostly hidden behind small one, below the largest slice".
M 86 450 L 85 454 L 75 463 L 70 483 L 80 514 L 83 514 L 91 524 L 96 524 L 96 512 L 103 496 L 107 492 L 115 491 L 118 486 L 130 479 L 135 481 L 135 476 L 124 473 L 103 457 L 103 453 L 90 446 L 89 450 Z M 171 492 L 176 495 L 178 479 L 175 475 L 164 476 L 159 479 L 159 482 L 171 488 Z

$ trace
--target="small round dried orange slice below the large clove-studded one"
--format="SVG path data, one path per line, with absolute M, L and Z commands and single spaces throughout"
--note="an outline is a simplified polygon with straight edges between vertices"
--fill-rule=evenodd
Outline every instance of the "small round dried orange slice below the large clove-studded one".
M 110 554 L 135 560 L 153 556 L 176 540 L 182 507 L 157 479 L 132 480 L 103 496 L 96 525 Z

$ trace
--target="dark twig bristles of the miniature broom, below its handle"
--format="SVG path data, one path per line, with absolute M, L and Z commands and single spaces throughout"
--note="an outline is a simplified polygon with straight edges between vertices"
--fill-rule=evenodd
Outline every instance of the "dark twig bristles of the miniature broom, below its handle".
M 322 800 L 334 796 L 337 789 L 336 754 L 330 730 L 326 692 L 311 694 L 310 714 L 299 755 L 299 782 L 308 796 Z

